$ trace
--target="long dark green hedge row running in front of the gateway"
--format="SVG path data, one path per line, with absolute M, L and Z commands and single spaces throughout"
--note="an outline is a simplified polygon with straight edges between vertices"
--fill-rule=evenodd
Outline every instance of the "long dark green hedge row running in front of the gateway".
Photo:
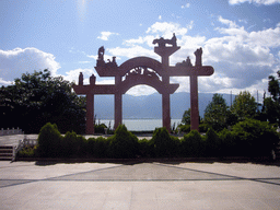
M 209 128 L 205 136 L 191 130 L 178 139 L 166 128 L 158 128 L 151 140 L 138 138 L 120 125 L 114 136 L 85 139 L 75 132 L 60 135 L 56 125 L 46 124 L 38 136 L 38 148 L 24 149 L 22 156 L 42 158 L 187 158 L 187 156 L 268 156 L 279 141 L 276 128 L 266 121 L 246 119 L 232 131 L 215 132 Z

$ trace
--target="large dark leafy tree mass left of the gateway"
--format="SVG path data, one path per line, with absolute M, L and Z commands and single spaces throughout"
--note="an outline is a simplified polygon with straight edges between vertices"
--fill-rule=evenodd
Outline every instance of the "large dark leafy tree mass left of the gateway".
M 61 132 L 85 128 L 85 98 L 71 92 L 72 83 L 50 71 L 34 71 L 0 89 L 1 127 L 20 127 L 38 133 L 46 122 L 56 124 Z

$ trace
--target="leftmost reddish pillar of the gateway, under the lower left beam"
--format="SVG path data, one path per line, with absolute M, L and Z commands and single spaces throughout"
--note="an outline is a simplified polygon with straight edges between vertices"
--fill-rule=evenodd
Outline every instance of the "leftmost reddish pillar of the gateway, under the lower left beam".
M 86 94 L 86 135 L 94 133 L 94 95 L 91 93 Z

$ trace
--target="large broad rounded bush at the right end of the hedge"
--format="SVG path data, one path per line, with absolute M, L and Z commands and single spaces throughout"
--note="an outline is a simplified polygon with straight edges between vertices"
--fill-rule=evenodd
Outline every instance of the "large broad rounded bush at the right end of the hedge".
M 276 128 L 268 121 L 245 119 L 234 125 L 232 130 L 242 155 L 268 155 L 279 141 Z

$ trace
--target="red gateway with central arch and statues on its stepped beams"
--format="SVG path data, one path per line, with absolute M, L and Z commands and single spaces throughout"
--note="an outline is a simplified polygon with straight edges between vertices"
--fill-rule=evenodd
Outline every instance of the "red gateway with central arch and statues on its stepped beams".
M 94 133 L 94 95 L 95 94 L 114 94 L 115 95 L 115 125 L 116 128 L 122 121 L 122 101 L 121 95 L 130 88 L 147 84 L 154 88 L 162 94 L 162 121 L 163 127 L 171 130 L 171 108 L 170 94 L 173 94 L 179 84 L 171 84 L 170 77 L 190 77 L 190 107 L 191 107 L 191 129 L 197 129 L 199 126 L 198 113 L 198 84 L 197 77 L 213 74 L 213 68 L 202 66 L 201 56 L 202 49 L 197 49 L 196 65 L 192 66 L 189 57 L 175 67 L 170 66 L 170 56 L 177 51 L 179 47 L 176 44 L 174 34 L 172 39 L 155 39 L 153 44 L 159 44 L 154 47 L 154 52 L 161 56 L 161 62 L 148 57 L 137 57 L 127 60 L 119 67 L 116 63 L 116 57 L 108 62 L 104 61 L 104 47 L 98 49 L 98 59 L 96 71 L 100 77 L 115 77 L 115 84 L 98 85 L 95 84 L 95 77 L 90 78 L 90 84 L 83 85 L 83 74 L 80 73 L 79 85 L 73 85 L 77 94 L 86 95 L 86 133 Z M 170 44 L 170 46 L 166 46 Z

